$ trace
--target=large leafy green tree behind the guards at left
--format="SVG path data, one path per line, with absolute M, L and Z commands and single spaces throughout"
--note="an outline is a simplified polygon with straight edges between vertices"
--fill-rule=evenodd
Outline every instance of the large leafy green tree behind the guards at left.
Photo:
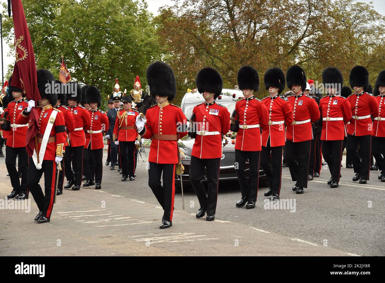
M 37 68 L 49 69 L 59 77 L 60 56 L 64 55 L 73 80 L 95 85 L 105 99 L 115 78 L 121 91 L 126 88 L 129 92 L 139 75 L 145 88 L 147 65 L 159 58 L 146 2 L 24 0 L 23 7 Z M 8 18 L 5 12 L 3 19 L 5 39 L 13 47 L 12 16 Z

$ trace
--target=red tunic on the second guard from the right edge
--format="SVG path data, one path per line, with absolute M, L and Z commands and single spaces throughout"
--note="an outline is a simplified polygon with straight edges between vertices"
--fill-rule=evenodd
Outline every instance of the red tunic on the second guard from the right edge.
M 378 117 L 378 102 L 372 94 L 362 92 L 361 94 L 352 94 L 348 96 L 351 105 L 352 119 L 348 126 L 348 134 L 355 136 L 367 136 L 373 134 L 373 117 Z M 357 117 L 365 117 L 357 119 Z M 356 117 L 356 118 L 355 118 Z

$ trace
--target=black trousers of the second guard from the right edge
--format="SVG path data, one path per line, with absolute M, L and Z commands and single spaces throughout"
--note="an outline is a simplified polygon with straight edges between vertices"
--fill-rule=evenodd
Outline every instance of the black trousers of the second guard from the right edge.
M 361 157 L 358 154 L 357 148 L 360 143 Z M 355 173 L 360 173 L 361 178 L 369 180 L 370 172 L 370 156 L 371 156 L 372 136 L 352 136 L 348 134 L 346 149 L 353 162 Z

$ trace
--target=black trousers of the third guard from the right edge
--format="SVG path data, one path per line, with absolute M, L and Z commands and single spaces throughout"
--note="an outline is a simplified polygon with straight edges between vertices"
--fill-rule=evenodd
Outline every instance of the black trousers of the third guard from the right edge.
M 341 172 L 341 151 L 343 140 L 339 141 L 322 141 L 322 154 L 328 164 L 331 174 L 331 181 L 340 181 Z

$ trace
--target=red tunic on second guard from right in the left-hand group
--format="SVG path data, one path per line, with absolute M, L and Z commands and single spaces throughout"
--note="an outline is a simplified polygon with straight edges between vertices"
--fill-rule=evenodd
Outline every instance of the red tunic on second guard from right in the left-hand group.
M 85 130 L 89 130 L 91 126 L 90 113 L 83 106 L 75 105 L 69 107 L 72 116 L 74 117 L 75 129 L 68 135 L 70 146 L 84 146 L 85 145 Z M 89 136 L 90 134 L 87 133 Z

